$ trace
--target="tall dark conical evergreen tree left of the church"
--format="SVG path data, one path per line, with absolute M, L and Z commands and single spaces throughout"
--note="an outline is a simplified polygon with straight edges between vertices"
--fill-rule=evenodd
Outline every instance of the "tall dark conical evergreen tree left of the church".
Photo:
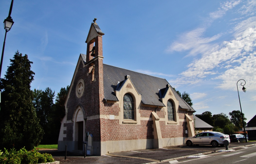
M 30 150 L 40 143 L 43 130 L 33 107 L 33 91 L 30 84 L 34 79 L 28 56 L 15 52 L 4 79 L 0 110 L 0 149 L 23 148 Z

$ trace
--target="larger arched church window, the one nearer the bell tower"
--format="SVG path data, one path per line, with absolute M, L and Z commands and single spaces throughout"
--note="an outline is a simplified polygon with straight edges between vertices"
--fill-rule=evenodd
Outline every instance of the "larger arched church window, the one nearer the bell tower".
M 128 93 L 123 97 L 123 119 L 134 120 L 134 101 Z

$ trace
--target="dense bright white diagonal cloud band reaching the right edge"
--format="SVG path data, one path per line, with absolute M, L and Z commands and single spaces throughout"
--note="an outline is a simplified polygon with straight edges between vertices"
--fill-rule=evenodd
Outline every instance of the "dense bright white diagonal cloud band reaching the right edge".
M 222 46 L 217 46 L 208 53 L 203 54 L 200 59 L 188 65 L 188 70 L 181 73 L 185 77 L 204 78 L 207 75 L 215 74 L 212 71 L 223 62 L 233 61 L 238 58 L 243 59 L 244 55 L 251 52 L 256 47 L 256 21 L 254 27 L 247 28 L 234 40 L 223 42 Z M 242 62 L 242 61 L 240 61 Z

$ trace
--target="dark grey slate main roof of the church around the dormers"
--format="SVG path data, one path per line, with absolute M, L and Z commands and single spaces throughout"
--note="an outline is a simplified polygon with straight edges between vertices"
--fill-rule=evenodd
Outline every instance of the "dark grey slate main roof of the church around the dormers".
M 119 89 L 117 87 L 124 84 L 126 80 L 124 76 L 126 75 L 130 76 L 130 80 L 135 86 L 137 92 L 141 94 L 142 104 L 162 107 L 165 106 L 160 101 L 160 98 L 163 94 L 165 95 L 168 90 L 167 84 L 169 83 L 166 79 L 103 64 L 104 98 L 106 100 L 119 101 L 115 96 L 114 91 Z M 119 85 L 117 86 L 117 84 Z M 162 95 L 159 94 L 159 88 Z M 195 112 L 195 110 L 190 107 L 171 86 L 170 88 L 176 99 L 179 101 L 179 108 Z

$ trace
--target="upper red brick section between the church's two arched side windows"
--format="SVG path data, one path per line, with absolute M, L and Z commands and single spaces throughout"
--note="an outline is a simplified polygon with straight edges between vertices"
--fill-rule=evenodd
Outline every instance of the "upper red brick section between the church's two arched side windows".
M 155 108 L 141 106 L 139 110 L 141 117 L 152 117 L 151 112 L 155 112 Z M 156 108 L 156 114 L 159 118 L 164 118 L 166 113 L 164 112 L 164 108 Z

